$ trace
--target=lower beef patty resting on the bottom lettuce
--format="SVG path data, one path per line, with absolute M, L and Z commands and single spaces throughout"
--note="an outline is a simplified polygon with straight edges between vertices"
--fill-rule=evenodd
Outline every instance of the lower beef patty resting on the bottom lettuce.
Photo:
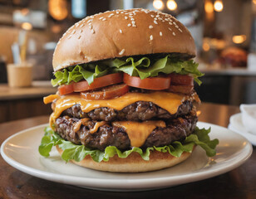
M 97 148 L 101 151 L 107 146 L 116 146 L 119 149 L 130 148 L 130 139 L 125 129 L 111 126 L 110 123 L 101 126 L 96 133 L 90 133 L 90 129 L 93 129 L 96 121 L 89 121 L 86 126 L 81 125 L 81 129 L 75 132 L 74 125 L 78 121 L 79 119 L 68 116 L 60 117 L 55 122 L 56 132 L 72 143 L 83 144 L 88 148 Z M 176 140 L 184 139 L 193 133 L 196 122 L 195 114 L 166 120 L 166 127 L 155 128 L 145 140 L 142 148 L 165 146 Z

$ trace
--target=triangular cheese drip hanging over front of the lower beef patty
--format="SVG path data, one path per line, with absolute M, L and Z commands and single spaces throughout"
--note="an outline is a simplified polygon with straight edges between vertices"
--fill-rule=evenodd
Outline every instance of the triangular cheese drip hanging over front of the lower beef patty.
M 131 147 L 141 147 L 146 138 L 149 137 L 150 133 L 156 127 L 165 128 L 164 121 L 145 121 L 142 123 L 132 122 L 132 121 L 121 121 L 121 122 L 113 122 L 113 126 L 122 127 L 126 130 L 128 137 L 130 138 L 130 146 Z

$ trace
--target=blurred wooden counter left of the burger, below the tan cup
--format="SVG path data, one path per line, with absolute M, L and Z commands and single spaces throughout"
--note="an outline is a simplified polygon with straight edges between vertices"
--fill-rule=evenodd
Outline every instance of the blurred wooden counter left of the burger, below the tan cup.
M 34 81 L 24 88 L 0 85 L 0 123 L 51 114 L 51 104 L 43 104 L 42 99 L 56 91 L 49 81 Z

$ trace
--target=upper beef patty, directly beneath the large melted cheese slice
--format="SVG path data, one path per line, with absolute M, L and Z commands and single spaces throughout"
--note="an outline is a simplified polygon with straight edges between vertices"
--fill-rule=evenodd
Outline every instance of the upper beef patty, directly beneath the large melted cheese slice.
M 63 111 L 62 116 L 67 115 L 77 119 L 91 118 L 92 120 L 107 122 L 117 120 L 144 121 L 148 119 L 173 119 L 189 114 L 192 108 L 192 102 L 187 100 L 180 105 L 176 114 L 170 114 L 167 110 L 160 108 L 152 102 L 138 101 L 121 110 L 102 107 L 93 109 L 89 113 L 84 113 L 81 111 L 80 104 L 76 104 Z

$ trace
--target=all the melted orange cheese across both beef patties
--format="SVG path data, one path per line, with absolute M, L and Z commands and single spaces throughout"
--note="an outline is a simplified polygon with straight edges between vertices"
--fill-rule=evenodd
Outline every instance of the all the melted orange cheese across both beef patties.
M 79 94 L 61 96 L 49 95 L 44 99 L 44 102 L 46 104 L 51 103 L 55 99 L 55 109 L 50 117 L 51 126 L 64 110 L 71 108 L 71 106 L 75 104 L 80 104 L 81 110 L 88 113 L 93 109 L 101 107 L 121 110 L 137 101 L 148 101 L 160 106 L 162 109 L 166 109 L 170 114 L 175 114 L 180 104 L 185 100 L 195 100 L 200 102 L 196 93 L 192 95 L 179 95 L 163 91 L 155 91 L 153 93 L 127 93 L 126 95 L 122 95 L 115 99 L 98 100 L 82 99 Z M 81 124 L 86 126 L 87 120 L 88 119 L 81 119 L 77 122 L 74 126 L 74 132 L 76 133 L 81 128 Z M 96 133 L 99 127 L 105 124 L 107 124 L 105 121 L 96 122 L 94 128 L 90 130 L 90 133 Z M 132 121 L 116 121 L 113 122 L 112 125 L 126 130 L 132 147 L 141 147 L 145 143 L 146 138 L 148 138 L 155 128 L 165 128 L 164 121 L 145 121 L 141 123 Z

